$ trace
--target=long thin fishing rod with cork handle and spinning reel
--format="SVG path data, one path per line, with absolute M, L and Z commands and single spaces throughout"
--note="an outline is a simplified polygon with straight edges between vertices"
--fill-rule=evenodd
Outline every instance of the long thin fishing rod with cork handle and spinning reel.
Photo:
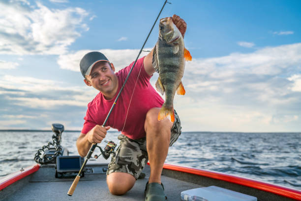
M 152 25 L 152 27 L 151 27 L 151 31 L 152 31 L 153 27 L 155 26 L 155 24 L 156 24 L 156 22 L 157 22 L 157 20 L 158 20 L 158 18 L 159 18 L 159 16 L 160 16 L 160 14 L 161 14 L 161 12 L 162 12 L 162 10 L 163 10 L 163 8 L 164 8 L 164 6 L 165 6 L 166 3 L 167 3 L 167 0 L 165 0 L 164 4 L 163 4 L 163 6 L 162 6 L 162 8 L 161 8 L 161 10 L 160 10 L 160 12 L 159 12 L 159 14 L 158 14 L 156 20 L 155 20 L 155 22 L 153 23 L 153 25 Z M 168 2 L 168 3 L 170 3 L 170 2 Z M 131 72 L 132 72 L 132 70 L 133 70 L 133 68 L 134 68 L 134 66 L 135 66 L 135 64 L 136 64 L 136 62 L 137 62 L 137 60 L 138 60 L 138 58 L 139 58 L 139 56 L 140 56 L 142 50 L 143 50 L 143 48 L 144 48 L 144 45 L 146 44 L 147 40 L 149 39 L 149 37 L 150 37 L 150 35 L 151 35 L 151 31 L 150 31 L 150 33 L 148 34 L 146 40 L 144 41 L 144 44 L 142 45 L 142 47 L 141 47 L 141 49 L 140 49 L 140 52 L 139 52 L 139 54 L 138 54 L 138 56 L 137 56 L 137 58 L 136 58 L 136 60 L 135 60 L 135 62 L 134 62 L 134 64 L 133 64 L 133 66 L 131 67 L 131 69 L 130 69 L 130 71 L 129 71 L 129 73 L 128 73 L 128 75 L 127 75 L 127 77 L 126 77 L 126 79 L 125 79 L 125 81 L 124 81 L 124 83 L 123 83 L 121 89 L 120 89 L 120 92 L 118 93 L 118 95 L 117 95 L 117 97 L 116 97 L 116 99 L 115 99 L 115 101 L 114 101 L 114 103 L 113 103 L 113 105 L 112 105 L 112 107 L 111 107 L 111 109 L 110 109 L 110 111 L 109 111 L 109 113 L 108 113 L 108 115 L 107 115 L 107 117 L 106 117 L 106 119 L 105 119 L 105 121 L 104 121 L 102 127 L 105 127 L 105 125 L 106 125 L 106 123 L 107 123 L 107 121 L 108 121 L 108 119 L 109 119 L 109 116 L 110 116 L 111 113 L 112 113 L 113 108 L 114 108 L 115 105 L 117 104 L 117 100 L 119 99 L 119 96 L 120 96 L 120 94 L 121 94 L 121 91 L 123 90 L 123 87 L 124 87 L 126 81 L 128 80 L 128 78 L 129 78 L 129 76 L 130 76 L 130 74 L 131 74 Z M 110 145 L 109 145 L 109 144 L 110 144 Z M 106 148 L 108 147 L 108 145 L 109 145 L 109 149 L 106 150 Z M 86 166 L 88 160 L 90 159 L 90 157 L 91 157 L 91 155 L 92 155 L 92 153 L 93 153 L 93 151 L 95 150 L 96 147 L 98 147 L 98 148 L 100 149 L 100 152 L 102 153 L 102 155 L 104 156 L 105 159 L 108 159 L 108 158 L 109 158 L 110 153 L 112 153 L 112 152 L 114 151 L 114 148 L 115 148 L 116 144 L 115 144 L 114 142 L 112 143 L 112 141 L 110 141 L 110 142 L 108 142 L 108 145 L 106 146 L 105 151 L 103 151 L 103 150 L 101 149 L 100 146 L 97 146 L 97 143 L 96 143 L 96 142 L 93 142 L 93 143 L 92 143 L 91 148 L 90 148 L 90 150 L 89 150 L 89 152 L 88 152 L 88 154 L 87 154 L 87 156 L 86 156 L 86 159 L 85 159 L 85 161 L 84 161 L 84 163 L 83 163 L 83 166 L 81 167 L 80 171 L 78 172 L 77 176 L 75 177 L 75 179 L 74 179 L 74 181 L 73 181 L 73 183 L 72 183 L 72 185 L 71 185 L 71 187 L 70 187 L 70 189 L 69 189 L 69 191 L 68 191 L 68 193 L 67 193 L 68 196 L 72 196 L 72 194 L 74 193 L 74 190 L 75 190 L 75 188 L 76 188 L 76 186 L 77 186 L 77 183 L 79 182 L 79 179 L 81 178 L 81 174 L 82 174 L 82 172 L 83 172 L 83 170 L 84 170 L 84 167 Z

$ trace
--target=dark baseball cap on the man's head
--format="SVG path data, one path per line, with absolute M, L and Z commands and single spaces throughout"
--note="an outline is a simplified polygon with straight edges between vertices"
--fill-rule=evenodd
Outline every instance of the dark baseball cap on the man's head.
M 90 75 L 92 67 L 97 62 L 101 62 L 101 61 L 109 62 L 109 60 L 106 58 L 106 56 L 104 56 L 104 54 L 102 54 L 100 52 L 87 53 L 80 62 L 82 75 L 84 77 L 85 77 L 85 75 Z

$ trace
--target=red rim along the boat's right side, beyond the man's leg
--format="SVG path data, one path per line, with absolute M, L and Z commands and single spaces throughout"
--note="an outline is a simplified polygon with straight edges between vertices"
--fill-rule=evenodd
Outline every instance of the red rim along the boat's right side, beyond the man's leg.
M 150 163 L 148 162 L 148 165 Z M 277 194 L 280 196 L 288 197 L 295 199 L 297 201 L 301 201 L 301 191 L 297 189 L 287 188 L 284 186 L 278 186 L 275 184 L 257 181 L 249 178 L 239 177 L 239 176 L 233 176 L 225 173 L 220 173 L 216 171 L 210 171 L 210 170 L 203 170 L 203 169 L 197 169 L 192 167 L 181 167 L 181 166 L 175 166 L 170 164 L 164 164 L 163 168 L 165 169 L 171 169 L 175 171 L 181 171 L 181 172 L 187 172 L 191 174 L 201 175 L 210 177 L 213 179 L 219 179 L 231 183 L 240 184 L 243 186 L 248 186 L 251 188 L 267 191 L 273 194 Z

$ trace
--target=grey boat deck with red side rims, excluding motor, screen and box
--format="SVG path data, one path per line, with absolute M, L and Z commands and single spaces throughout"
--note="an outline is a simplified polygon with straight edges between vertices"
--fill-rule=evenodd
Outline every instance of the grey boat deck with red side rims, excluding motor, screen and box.
M 143 169 L 146 177 L 138 179 L 129 192 L 114 196 L 106 184 L 108 161 L 89 161 L 72 197 L 67 192 L 76 174 L 56 178 L 55 165 L 27 167 L 21 173 L 15 172 L 0 180 L 0 201 L 144 201 L 150 167 Z M 254 196 L 258 201 L 301 201 L 299 190 L 209 170 L 165 164 L 161 180 L 169 201 L 181 201 L 182 191 L 208 186 Z

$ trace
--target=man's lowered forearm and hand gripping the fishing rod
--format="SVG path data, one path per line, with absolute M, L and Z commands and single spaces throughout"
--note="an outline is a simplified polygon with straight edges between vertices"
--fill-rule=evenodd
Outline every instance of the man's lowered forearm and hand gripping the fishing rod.
M 99 125 L 94 126 L 87 134 L 81 133 L 76 141 L 77 151 L 81 157 L 85 157 L 90 150 L 93 142 L 100 143 L 105 138 L 109 126 L 102 127 Z

